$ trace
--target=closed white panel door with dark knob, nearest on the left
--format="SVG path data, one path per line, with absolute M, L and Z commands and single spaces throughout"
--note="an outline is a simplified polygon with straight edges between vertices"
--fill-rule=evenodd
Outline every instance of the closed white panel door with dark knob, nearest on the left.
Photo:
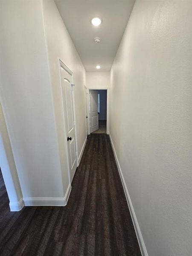
M 70 167 L 70 181 L 77 168 L 76 160 L 76 137 L 74 127 L 74 110 L 73 110 L 73 85 L 72 76 L 61 67 L 61 82 L 62 82 L 62 101 L 64 110 L 66 143 L 68 148 L 68 159 Z

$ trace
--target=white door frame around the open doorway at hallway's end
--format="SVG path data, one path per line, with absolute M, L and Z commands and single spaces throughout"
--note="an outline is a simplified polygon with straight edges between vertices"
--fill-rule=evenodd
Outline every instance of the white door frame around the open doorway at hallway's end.
M 87 87 L 89 92 L 88 102 L 88 134 L 90 134 L 90 90 L 107 90 L 107 129 L 106 133 L 109 134 L 109 87 Z

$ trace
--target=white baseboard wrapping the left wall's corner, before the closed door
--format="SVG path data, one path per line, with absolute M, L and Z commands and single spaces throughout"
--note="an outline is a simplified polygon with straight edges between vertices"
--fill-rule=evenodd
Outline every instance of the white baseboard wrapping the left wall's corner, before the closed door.
M 69 184 L 63 198 L 23 198 L 25 206 L 66 206 L 71 191 Z

